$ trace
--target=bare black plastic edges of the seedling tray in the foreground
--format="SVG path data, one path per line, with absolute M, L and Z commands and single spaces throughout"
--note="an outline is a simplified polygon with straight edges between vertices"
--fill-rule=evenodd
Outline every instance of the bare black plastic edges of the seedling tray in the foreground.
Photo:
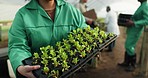
M 96 54 L 98 54 L 98 52 L 100 52 L 102 49 L 104 49 L 106 46 L 108 46 L 111 42 L 116 40 L 116 38 L 117 38 L 117 36 L 115 35 L 115 36 L 111 37 L 110 39 L 106 40 L 104 43 L 99 44 L 99 47 L 94 49 L 91 53 L 87 54 L 87 57 L 80 59 L 78 64 L 76 64 L 76 65 L 69 64 L 71 66 L 70 69 L 67 71 L 64 71 L 64 72 L 60 72 L 59 78 L 70 77 L 72 74 L 74 74 L 80 68 L 82 68 L 88 61 L 90 61 L 93 57 L 95 57 Z M 32 57 L 23 60 L 23 63 L 25 65 L 32 65 L 32 62 L 33 62 Z M 40 69 L 33 71 L 33 74 L 37 78 L 48 78 L 47 75 L 42 74 L 42 66 Z

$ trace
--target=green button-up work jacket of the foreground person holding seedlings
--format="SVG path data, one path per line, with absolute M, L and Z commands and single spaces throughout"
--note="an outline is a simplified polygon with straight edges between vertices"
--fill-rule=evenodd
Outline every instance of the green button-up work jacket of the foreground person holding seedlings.
M 64 0 L 56 0 L 55 17 L 52 20 L 37 0 L 31 0 L 16 13 L 9 30 L 9 59 L 14 72 L 22 60 L 40 52 L 39 48 L 54 46 L 66 38 L 71 30 L 87 27 L 83 15 Z

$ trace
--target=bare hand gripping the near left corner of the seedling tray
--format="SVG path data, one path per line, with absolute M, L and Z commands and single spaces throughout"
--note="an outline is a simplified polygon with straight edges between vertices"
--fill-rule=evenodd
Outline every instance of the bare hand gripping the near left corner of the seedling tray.
M 35 66 L 25 65 L 25 66 L 19 66 L 19 67 L 17 68 L 17 70 L 18 70 L 18 72 L 19 72 L 21 75 L 23 75 L 23 76 L 25 76 L 25 77 L 27 77 L 27 78 L 36 78 L 36 77 L 33 75 L 32 71 L 33 71 L 33 70 L 37 70 L 37 69 L 39 69 L 39 68 L 40 68 L 40 65 L 35 65 Z

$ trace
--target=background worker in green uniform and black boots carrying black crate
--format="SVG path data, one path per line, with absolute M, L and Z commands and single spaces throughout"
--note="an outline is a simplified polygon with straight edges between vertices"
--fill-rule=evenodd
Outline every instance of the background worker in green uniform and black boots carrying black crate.
M 136 10 L 131 20 L 128 20 L 124 62 L 118 65 L 124 67 L 126 71 L 134 71 L 136 68 L 136 52 L 135 46 L 139 40 L 144 26 L 148 25 L 148 2 L 147 0 L 138 0 L 141 5 Z

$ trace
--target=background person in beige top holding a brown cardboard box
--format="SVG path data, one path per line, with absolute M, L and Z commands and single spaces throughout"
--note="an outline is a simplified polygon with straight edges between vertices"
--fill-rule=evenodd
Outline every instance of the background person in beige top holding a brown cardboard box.
M 80 0 L 80 2 L 75 5 L 75 7 L 79 9 L 81 13 L 84 13 L 87 11 L 86 3 L 87 3 L 87 0 Z M 92 28 L 95 27 L 95 22 L 93 19 L 85 17 L 85 20 L 86 20 L 86 24 L 90 25 L 90 27 Z

